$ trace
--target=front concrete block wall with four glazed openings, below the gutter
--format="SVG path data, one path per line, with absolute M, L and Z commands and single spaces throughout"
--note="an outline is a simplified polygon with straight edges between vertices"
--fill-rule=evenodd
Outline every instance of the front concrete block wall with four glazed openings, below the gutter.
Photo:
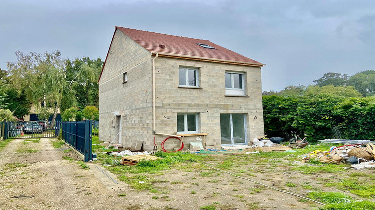
M 156 131 L 176 134 L 177 113 L 199 113 L 200 133 L 209 133 L 207 143 L 221 146 L 220 114 L 244 113 L 247 140 L 264 135 L 260 67 L 158 57 L 156 65 Z M 201 89 L 179 88 L 179 67 L 199 68 Z M 248 97 L 225 96 L 225 71 L 245 73 Z M 255 117 L 256 116 L 256 117 Z M 162 140 L 158 136 L 158 141 Z M 195 137 L 184 137 L 186 148 Z M 179 146 L 179 142 L 168 147 Z

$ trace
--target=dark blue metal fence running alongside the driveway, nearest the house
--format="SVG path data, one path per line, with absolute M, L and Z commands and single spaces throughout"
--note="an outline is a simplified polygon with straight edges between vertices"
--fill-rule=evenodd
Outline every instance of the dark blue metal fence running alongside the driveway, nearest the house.
M 56 133 L 61 132 L 61 137 L 66 143 L 84 155 L 84 161 L 92 160 L 92 127 L 93 120 L 58 122 Z

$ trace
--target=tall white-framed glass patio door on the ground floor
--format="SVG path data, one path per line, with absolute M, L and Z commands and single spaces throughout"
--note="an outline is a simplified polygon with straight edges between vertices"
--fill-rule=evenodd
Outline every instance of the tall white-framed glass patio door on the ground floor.
M 220 114 L 221 144 L 246 144 L 246 115 Z

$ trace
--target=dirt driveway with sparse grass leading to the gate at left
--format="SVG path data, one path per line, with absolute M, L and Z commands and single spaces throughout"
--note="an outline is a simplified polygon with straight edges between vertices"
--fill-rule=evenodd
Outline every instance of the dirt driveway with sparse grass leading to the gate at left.
M 0 209 L 124 208 L 117 196 L 123 189 L 108 189 L 95 171 L 62 159 L 62 150 L 53 148 L 49 138 L 10 142 L 0 152 Z

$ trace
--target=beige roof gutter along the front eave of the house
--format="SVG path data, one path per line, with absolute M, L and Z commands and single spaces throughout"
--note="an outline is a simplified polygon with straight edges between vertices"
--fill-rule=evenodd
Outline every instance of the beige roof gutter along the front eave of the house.
M 190 55 L 182 55 L 182 54 L 170 54 L 170 53 L 160 53 L 160 52 L 151 52 L 151 55 L 158 55 L 162 57 L 173 57 L 173 58 L 181 58 L 181 59 L 192 59 L 192 60 L 201 60 L 201 61 L 209 61 L 209 62 L 219 62 L 219 63 L 227 63 L 227 64 L 236 64 L 236 65 L 247 65 L 247 66 L 255 66 L 255 67 L 263 67 L 265 64 L 263 63 L 253 63 L 253 62 L 242 62 L 242 61 L 233 61 L 233 60 L 225 60 L 225 59 L 214 59 L 214 58 L 207 58 L 207 57 L 198 57 L 198 56 L 190 56 Z

